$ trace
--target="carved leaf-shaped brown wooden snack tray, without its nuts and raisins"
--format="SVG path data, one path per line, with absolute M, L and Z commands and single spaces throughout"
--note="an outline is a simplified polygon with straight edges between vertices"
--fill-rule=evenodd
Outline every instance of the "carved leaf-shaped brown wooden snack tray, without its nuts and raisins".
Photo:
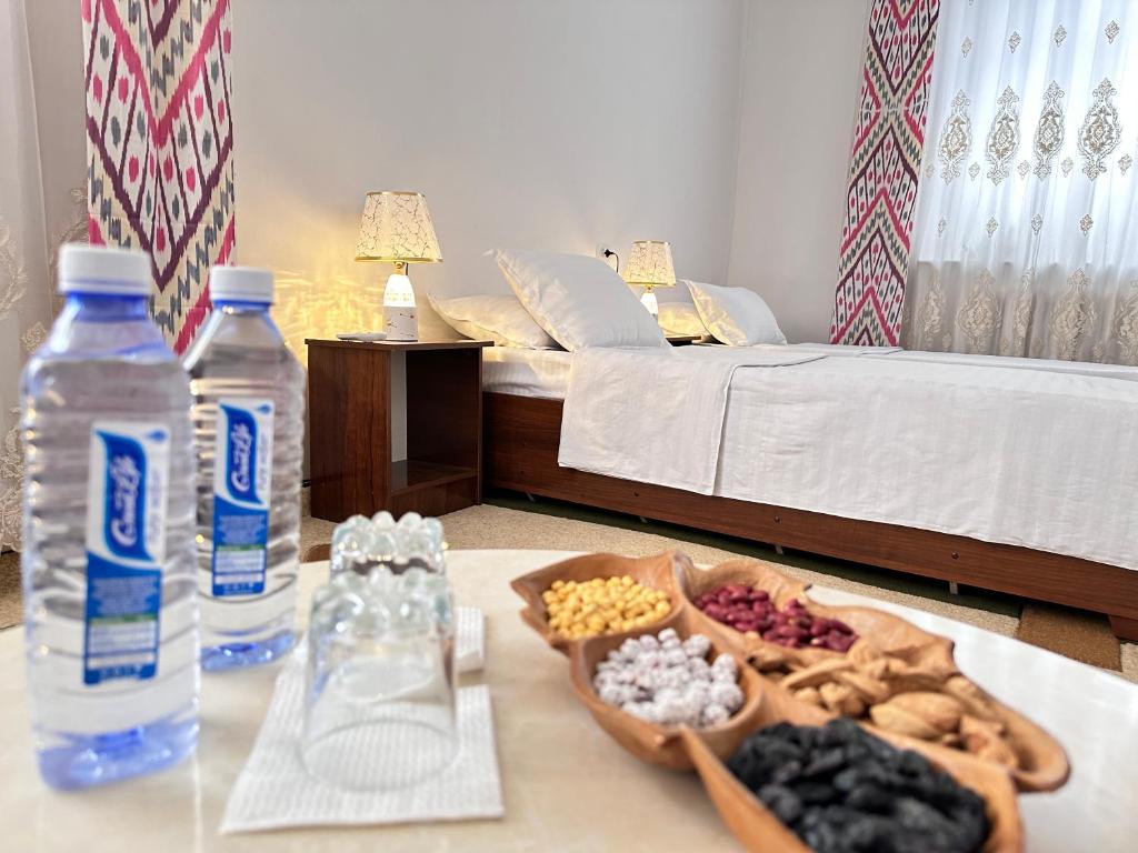
M 542 593 L 554 580 L 584 581 L 622 574 L 667 591 L 671 597 L 671 613 L 659 622 L 634 631 L 582 640 L 569 640 L 550 630 Z M 525 622 L 552 647 L 569 655 L 570 673 L 578 698 L 615 740 L 645 762 L 671 769 L 694 768 L 724 822 L 749 850 L 803 853 L 807 847 L 802 842 L 734 778 L 724 761 L 749 734 L 760 728 L 782 721 L 820 726 L 836 714 L 799 702 L 786 689 L 759 676 L 751 666 L 742 666 L 740 670 L 740 685 L 745 696 L 743 707 L 723 726 L 702 730 L 653 726 L 602 702 L 593 690 L 596 664 L 610 651 L 628 637 L 659 633 L 669 627 L 685 638 L 692 633 L 707 636 L 715 653 L 732 654 L 737 663 L 761 656 L 764 648 L 774 644 L 765 643 L 761 638 L 756 643 L 754 637 L 744 636 L 706 616 L 690 599 L 703 590 L 727 582 L 742 582 L 766 589 L 780 606 L 792 597 L 801 597 L 813 613 L 841 619 L 859 636 L 866 637 L 866 643 L 872 638 L 877 652 L 887 652 L 910 663 L 925 661 L 935 664 L 946 676 L 958 672 L 953 660 L 951 640 L 922 631 L 904 619 L 872 607 L 825 607 L 809 602 L 806 596 L 807 585 L 761 561 L 734 560 L 710 571 L 702 571 L 695 569 L 679 552 L 666 552 L 638 560 L 593 554 L 526 574 L 512 581 L 511 587 L 526 601 L 527 606 L 521 611 Z M 807 665 L 827 656 L 842 656 L 841 653 L 828 649 L 776 648 L 780 653 L 814 653 L 800 659 Z M 1023 828 L 1015 801 L 1015 785 L 1022 790 L 1052 790 L 1066 780 L 1070 765 L 1062 746 L 1054 738 L 1005 705 L 996 704 L 1006 711 L 1007 730 L 1031 759 L 1014 773 L 966 752 L 882 731 L 864 722 L 860 724 L 899 748 L 910 748 L 925 755 L 933 764 L 983 796 L 992 821 L 984 853 L 1017 853 L 1023 850 Z

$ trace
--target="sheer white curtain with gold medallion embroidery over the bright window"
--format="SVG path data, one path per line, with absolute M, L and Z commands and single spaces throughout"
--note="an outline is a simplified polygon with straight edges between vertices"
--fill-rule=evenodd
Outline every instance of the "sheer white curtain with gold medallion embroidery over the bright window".
M 906 347 L 1138 364 L 1133 13 L 941 0 Z

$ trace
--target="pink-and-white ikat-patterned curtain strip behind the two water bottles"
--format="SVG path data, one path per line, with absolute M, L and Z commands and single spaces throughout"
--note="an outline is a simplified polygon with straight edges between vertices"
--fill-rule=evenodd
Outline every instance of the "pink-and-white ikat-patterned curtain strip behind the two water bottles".
M 92 242 L 150 255 L 175 351 L 233 249 L 229 0 L 82 0 Z

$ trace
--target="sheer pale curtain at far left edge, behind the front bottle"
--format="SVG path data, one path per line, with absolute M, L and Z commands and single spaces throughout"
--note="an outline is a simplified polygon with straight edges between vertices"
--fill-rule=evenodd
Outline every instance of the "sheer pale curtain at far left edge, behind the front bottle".
M 80 32 L 74 2 L 0 0 L 0 550 L 19 547 L 19 373 L 51 325 L 57 247 L 86 233 Z

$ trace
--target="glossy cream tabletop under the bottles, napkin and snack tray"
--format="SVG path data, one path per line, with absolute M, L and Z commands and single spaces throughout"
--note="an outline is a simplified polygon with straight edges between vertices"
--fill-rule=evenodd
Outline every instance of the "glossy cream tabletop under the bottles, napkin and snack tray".
M 0 789 L 3 848 L 160 850 L 163 853 L 373 853 L 384 850 L 737 850 L 694 775 L 642 764 L 601 731 L 574 697 L 568 663 L 518 616 L 511 578 L 570 554 L 470 550 L 448 556 L 457 603 L 487 618 L 487 663 L 506 817 L 498 821 L 304 829 L 221 837 L 229 794 L 269 705 L 280 664 L 203 677 L 195 759 L 154 776 L 60 794 L 39 779 L 24 702 L 23 632 L 0 632 Z M 302 568 L 306 607 L 327 563 Z M 953 637 L 960 666 L 1053 731 L 1071 754 L 1071 781 L 1020 797 L 1032 853 L 1131 851 L 1138 839 L 1138 686 L 948 619 L 830 589 L 825 604 L 871 604 Z M 305 611 L 303 610 L 302 613 Z M 302 621 L 304 616 L 302 615 Z

